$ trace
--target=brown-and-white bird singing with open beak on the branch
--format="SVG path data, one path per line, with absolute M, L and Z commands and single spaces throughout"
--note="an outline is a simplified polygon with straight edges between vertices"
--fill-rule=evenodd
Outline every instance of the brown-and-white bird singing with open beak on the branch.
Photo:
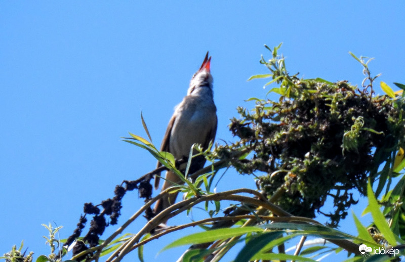
M 165 137 L 161 143 L 160 151 L 170 152 L 177 159 L 187 159 L 193 144 L 200 144 L 207 149 L 210 142 L 214 141 L 217 132 L 217 108 L 214 104 L 213 77 L 210 71 L 211 57 L 208 52 L 203 64 L 190 80 L 187 96 L 175 107 L 174 114 L 169 121 Z M 195 151 L 195 150 L 194 150 Z M 194 152 L 195 153 L 195 152 Z M 194 157 L 188 173 L 193 173 L 204 167 L 204 156 Z M 157 162 L 157 167 L 161 166 Z M 186 164 L 179 170 L 184 172 Z M 157 174 L 159 176 L 160 174 Z M 180 178 L 172 171 L 167 171 L 166 180 L 161 188 L 182 184 Z M 155 177 L 155 189 L 159 187 L 159 177 Z M 157 200 L 154 213 L 172 205 L 177 197 L 176 193 L 167 194 Z

